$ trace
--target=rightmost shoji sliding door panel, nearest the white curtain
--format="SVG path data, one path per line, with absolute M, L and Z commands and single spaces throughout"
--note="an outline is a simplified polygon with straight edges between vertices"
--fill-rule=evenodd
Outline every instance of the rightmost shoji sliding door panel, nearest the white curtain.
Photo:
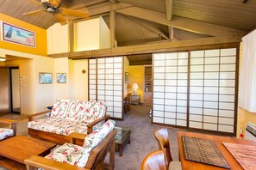
M 234 133 L 236 48 L 190 52 L 190 128 Z

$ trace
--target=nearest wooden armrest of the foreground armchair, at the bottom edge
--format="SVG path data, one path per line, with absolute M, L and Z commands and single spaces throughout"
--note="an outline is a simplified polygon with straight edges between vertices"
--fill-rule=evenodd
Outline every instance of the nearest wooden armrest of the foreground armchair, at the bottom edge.
M 62 163 L 59 161 L 53 161 L 39 155 L 33 155 L 24 161 L 27 169 L 35 169 L 34 167 L 41 167 L 42 169 L 56 170 L 56 169 L 76 169 L 76 170 L 86 170 L 87 168 L 73 166 L 67 163 Z

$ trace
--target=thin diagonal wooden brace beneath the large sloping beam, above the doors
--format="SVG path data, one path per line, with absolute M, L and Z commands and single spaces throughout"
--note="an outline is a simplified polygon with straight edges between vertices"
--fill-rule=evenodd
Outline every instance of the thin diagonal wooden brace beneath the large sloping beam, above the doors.
M 152 31 L 153 33 L 157 33 L 159 36 L 165 38 L 165 39 L 169 39 L 169 37 L 167 37 L 165 35 L 165 33 L 160 30 L 158 27 L 153 27 L 153 25 L 151 25 L 150 23 L 148 23 L 147 21 L 138 21 L 136 20 L 134 17 L 130 17 L 128 15 L 125 15 L 128 19 L 130 19 L 131 21 L 136 22 L 137 24 L 139 24 L 142 27 L 147 28 L 149 31 Z

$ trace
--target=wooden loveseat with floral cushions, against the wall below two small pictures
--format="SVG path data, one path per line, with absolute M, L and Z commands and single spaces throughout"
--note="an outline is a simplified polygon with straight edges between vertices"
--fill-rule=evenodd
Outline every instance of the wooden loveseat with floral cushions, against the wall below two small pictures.
M 59 144 L 69 142 L 72 132 L 91 133 L 94 126 L 109 119 L 107 107 L 100 101 L 58 99 L 48 112 L 45 118 L 35 119 L 47 112 L 28 116 L 28 134 Z

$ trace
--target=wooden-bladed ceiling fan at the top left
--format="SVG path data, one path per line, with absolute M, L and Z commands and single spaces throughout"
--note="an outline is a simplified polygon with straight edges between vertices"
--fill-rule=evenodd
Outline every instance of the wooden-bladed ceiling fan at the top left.
M 61 8 L 61 0 L 41 0 L 41 3 L 31 0 L 34 3 L 37 3 L 39 5 L 42 5 L 44 9 L 38 9 L 34 10 L 28 13 L 23 13 L 22 15 L 27 15 L 27 16 L 34 16 L 38 15 L 41 12 L 48 12 L 50 14 L 53 14 L 55 19 L 61 24 L 65 25 L 66 24 L 66 18 L 64 17 L 65 15 L 71 15 L 75 16 L 78 18 L 85 18 L 89 17 L 90 15 L 86 12 L 81 12 L 78 10 L 72 10 L 72 9 L 66 9 L 66 8 Z

